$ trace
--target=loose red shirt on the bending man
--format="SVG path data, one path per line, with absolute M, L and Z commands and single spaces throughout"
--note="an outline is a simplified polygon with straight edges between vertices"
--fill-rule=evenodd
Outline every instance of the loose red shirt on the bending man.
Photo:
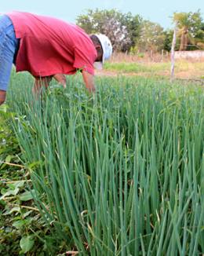
M 94 75 L 97 51 L 80 27 L 62 20 L 31 13 L 6 14 L 13 21 L 20 48 L 16 71 L 34 76 L 74 74 L 83 69 Z

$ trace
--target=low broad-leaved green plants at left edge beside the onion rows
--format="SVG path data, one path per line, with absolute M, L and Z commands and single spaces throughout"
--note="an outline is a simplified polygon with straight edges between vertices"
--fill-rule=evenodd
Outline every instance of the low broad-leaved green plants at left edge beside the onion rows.
M 11 126 L 12 115 L 0 108 L 0 254 L 47 255 L 56 249 L 49 229 L 35 207 L 31 180 L 21 165 L 20 146 Z

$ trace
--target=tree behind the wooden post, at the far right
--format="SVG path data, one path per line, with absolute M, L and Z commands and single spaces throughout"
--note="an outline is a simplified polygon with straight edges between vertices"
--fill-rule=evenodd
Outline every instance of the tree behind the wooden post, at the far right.
M 179 50 L 198 49 L 199 43 L 204 40 L 200 11 L 198 10 L 195 13 L 173 13 L 173 22 L 177 24 L 178 28 Z

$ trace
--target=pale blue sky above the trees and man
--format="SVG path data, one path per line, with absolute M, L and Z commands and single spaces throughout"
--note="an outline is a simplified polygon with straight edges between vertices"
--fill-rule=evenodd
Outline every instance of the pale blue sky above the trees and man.
M 19 10 L 75 23 L 77 16 L 86 14 L 87 9 L 96 8 L 139 14 L 165 29 L 173 27 L 171 16 L 174 12 L 195 12 L 200 9 L 204 20 L 204 0 L 7 0 L 1 1 L 0 13 Z

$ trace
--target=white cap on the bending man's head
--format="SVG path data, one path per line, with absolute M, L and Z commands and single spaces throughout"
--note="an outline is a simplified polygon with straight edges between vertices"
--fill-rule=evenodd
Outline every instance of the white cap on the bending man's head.
M 104 61 L 108 60 L 111 57 L 113 48 L 112 48 L 112 45 L 111 45 L 111 41 L 109 40 L 109 38 L 107 38 L 106 35 L 103 35 L 103 34 L 95 34 L 95 35 L 99 39 L 100 44 L 102 46 L 103 57 L 102 57 L 102 61 L 96 61 L 94 63 L 94 67 L 97 68 L 97 69 L 102 69 Z

